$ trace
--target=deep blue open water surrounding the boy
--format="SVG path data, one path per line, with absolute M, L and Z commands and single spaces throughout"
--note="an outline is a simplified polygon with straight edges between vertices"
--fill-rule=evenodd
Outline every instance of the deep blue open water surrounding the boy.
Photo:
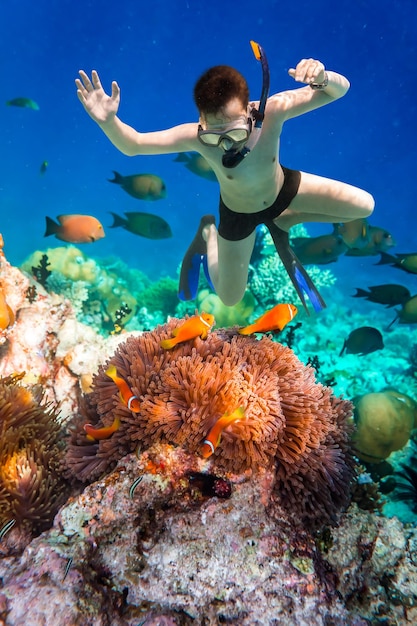
M 281 161 L 367 189 L 376 198 L 372 223 L 394 234 L 394 251 L 416 251 L 414 0 L 340 0 L 337 6 L 330 0 L 122 0 L 117 6 L 12 0 L 2 12 L 0 232 L 12 263 L 62 245 L 44 238 L 46 215 L 80 212 L 98 217 L 107 233 L 81 246 L 87 254 L 118 255 L 152 278 L 175 276 L 199 218 L 217 211 L 217 184 L 193 175 L 172 155 L 119 153 L 84 112 L 74 79 L 80 68 L 95 68 L 107 90 L 117 80 L 120 117 L 138 130 L 158 130 L 197 119 L 193 85 L 211 65 L 235 66 L 257 98 L 261 73 L 250 39 L 267 52 L 272 92 L 295 86 L 287 70 L 303 57 L 349 78 L 342 100 L 287 122 Z M 5 105 L 17 96 L 34 99 L 39 111 Z M 48 169 L 41 175 L 44 160 Z M 152 203 L 131 198 L 107 182 L 112 170 L 157 174 L 167 197 Z M 110 230 L 111 211 L 154 212 L 171 224 L 174 236 L 149 241 Z M 309 230 L 320 234 L 329 226 Z M 332 269 L 342 277 L 350 268 L 372 277 L 374 261 L 344 259 Z

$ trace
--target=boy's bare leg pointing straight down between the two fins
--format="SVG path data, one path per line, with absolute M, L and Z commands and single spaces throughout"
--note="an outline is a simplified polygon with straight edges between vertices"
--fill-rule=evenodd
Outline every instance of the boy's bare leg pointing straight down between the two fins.
M 255 232 L 240 241 L 223 239 L 212 224 L 203 230 L 207 241 L 207 263 L 211 281 L 220 300 L 233 306 L 243 298 Z

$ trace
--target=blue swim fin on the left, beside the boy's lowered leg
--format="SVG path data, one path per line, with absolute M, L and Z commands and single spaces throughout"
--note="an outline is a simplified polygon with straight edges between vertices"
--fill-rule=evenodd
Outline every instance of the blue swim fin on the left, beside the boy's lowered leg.
M 196 236 L 184 255 L 178 289 L 178 298 L 180 300 L 194 300 L 196 298 L 201 265 L 203 266 L 207 282 L 214 289 L 207 265 L 207 243 L 204 241 L 201 233 L 205 226 L 214 224 L 215 221 L 214 215 L 203 215 Z

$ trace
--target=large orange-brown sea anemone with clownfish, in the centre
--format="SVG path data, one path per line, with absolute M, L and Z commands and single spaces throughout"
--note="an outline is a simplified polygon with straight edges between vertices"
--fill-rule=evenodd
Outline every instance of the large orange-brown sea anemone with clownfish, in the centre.
M 333 521 L 348 498 L 352 475 L 351 404 L 315 381 L 314 370 L 269 337 L 258 340 L 220 329 L 203 341 L 163 350 L 182 320 L 119 345 L 99 369 L 86 396 L 83 420 L 72 434 L 67 465 L 92 480 L 138 446 L 156 441 L 199 454 L 213 424 L 242 406 L 245 419 L 230 425 L 211 457 L 217 471 L 277 467 L 280 498 L 301 517 Z M 132 413 L 105 371 L 112 363 L 140 400 Z M 108 439 L 87 440 L 82 425 L 120 428 Z

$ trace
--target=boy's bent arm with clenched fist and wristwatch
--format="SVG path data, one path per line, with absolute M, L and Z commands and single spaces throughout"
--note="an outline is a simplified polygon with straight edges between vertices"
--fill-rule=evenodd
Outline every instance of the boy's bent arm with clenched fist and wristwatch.
M 279 115 L 281 121 L 308 113 L 325 104 L 341 98 L 348 91 L 347 78 L 336 72 L 326 71 L 323 63 L 315 59 L 303 59 L 296 68 L 288 70 L 295 81 L 308 86 L 278 93 L 268 100 L 271 112 Z M 323 89 L 312 89 L 311 84 L 321 84 L 327 76 L 328 83 Z

